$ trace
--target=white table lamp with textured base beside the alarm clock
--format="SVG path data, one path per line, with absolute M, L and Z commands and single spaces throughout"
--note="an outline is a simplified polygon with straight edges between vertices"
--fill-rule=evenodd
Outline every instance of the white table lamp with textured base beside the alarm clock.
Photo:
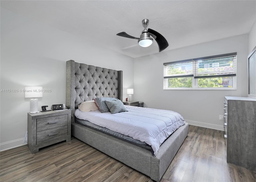
M 38 113 L 38 99 L 36 97 L 43 97 L 43 87 L 42 86 L 25 86 L 25 98 L 30 99 L 30 113 Z

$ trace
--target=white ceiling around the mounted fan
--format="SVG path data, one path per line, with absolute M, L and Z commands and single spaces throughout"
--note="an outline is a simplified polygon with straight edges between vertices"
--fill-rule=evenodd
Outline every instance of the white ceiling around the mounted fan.
M 139 37 L 144 18 L 167 39 L 164 51 L 248 33 L 256 21 L 255 0 L 1 0 L 0 6 L 133 58 L 158 53 L 156 41 L 143 48 L 116 33 Z

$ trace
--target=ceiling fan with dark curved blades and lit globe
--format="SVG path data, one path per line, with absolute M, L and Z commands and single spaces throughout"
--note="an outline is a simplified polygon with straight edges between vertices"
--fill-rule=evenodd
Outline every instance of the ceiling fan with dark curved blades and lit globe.
M 150 36 L 152 36 L 156 40 L 156 43 L 158 44 L 159 52 L 161 52 L 164 49 L 166 49 L 166 47 L 168 47 L 169 44 L 166 41 L 166 39 L 164 38 L 164 36 L 162 36 L 160 33 L 158 33 L 157 31 L 154 31 L 154 30 L 152 30 L 150 28 L 147 29 L 148 23 L 149 23 L 148 19 L 142 20 L 142 26 L 144 27 L 144 30 L 141 32 L 140 38 L 128 35 L 124 31 L 120 32 L 120 33 L 118 33 L 116 35 L 119 35 L 121 37 L 130 38 L 130 39 L 138 39 L 138 44 L 141 47 L 148 47 L 148 46 L 150 46 L 153 43 L 153 39 L 150 37 Z

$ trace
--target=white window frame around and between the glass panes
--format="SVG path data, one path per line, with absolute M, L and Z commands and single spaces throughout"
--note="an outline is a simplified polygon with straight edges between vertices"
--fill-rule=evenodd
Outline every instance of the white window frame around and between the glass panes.
M 223 55 L 215 55 L 215 56 L 209 56 L 209 57 L 202 57 L 202 58 L 196 58 L 196 59 L 189 59 L 189 60 L 182 60 L 182 61 L 175 61 L 175 62 L 169 62 L 169 63 L 164 63 L 164 68 L 166 65 L 174 65 L 176 63 L 182 63 L 182 62 L 191 62 L 191 60 L 193 60 L 193 74 L 194 76 L 192 77 L 192 88 L 168 88 L 168 76 L 165 75 L 164 72 L 164 90 L 236 90 L 236 70 L 235 69 L 235 74 L 232 75 L 233 78 L 233 87 L 203 87 L 200 88 L 198 87 L 198 78 L 196 78 L 195 76 L 195 70 L 196 68 L 196 61 L 198 60 L 205 60 L 205 59 L 214 59 L 214 58 L 222 58 L 222 57 L 232 57 L 232 56 L 236 56 L 237 53 L 228 53 L 228 54 L 223 54 Z M 235 66 L 236 66 L 236 60 L 235 60 Z M 228 76 L 228 75 L 223 75 L 223 77 Z M 186 77 L 186 76 L 184 76 Z M 222 77 L 222 76 L 220 76 Z M 210 77 L 209 77 L 210 78 Z

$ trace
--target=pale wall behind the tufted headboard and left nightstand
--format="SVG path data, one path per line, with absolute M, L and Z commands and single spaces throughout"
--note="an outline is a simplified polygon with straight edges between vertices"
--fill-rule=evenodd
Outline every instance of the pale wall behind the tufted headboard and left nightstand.
M 133 59 L 66 32 L 1 8 L 0 89 L 42 86 L 51 89 L 39 98 L 43 105 L 66 100 L 66 61 L 123 70 L 126 88 L 133 87 Z M 23 92 L 0 93 L 0 150 L 22 145 L 27 131 L 29 98 Z

